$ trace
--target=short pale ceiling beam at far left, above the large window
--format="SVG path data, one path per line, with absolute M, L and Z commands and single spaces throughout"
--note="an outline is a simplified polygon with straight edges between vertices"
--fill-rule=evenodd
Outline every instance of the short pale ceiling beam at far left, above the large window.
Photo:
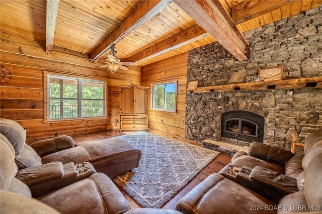
M 46 5 L 46 53 L 51 53 L 59 0 L 47 0 Z

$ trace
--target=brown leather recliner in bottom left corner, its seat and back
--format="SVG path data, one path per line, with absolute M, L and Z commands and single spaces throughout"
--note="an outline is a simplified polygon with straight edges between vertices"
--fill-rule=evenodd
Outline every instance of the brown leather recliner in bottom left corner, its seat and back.
M 14 158 L 13 146 L 0 134 L 2 212 L 16 211 L 19 213 L 21 208 L 25 208 L 25 212 L 28 213 L 55 213 L 54 209 L 45 204 L 61 213 L 124 213 L 130 210 L 122 193 L 113 181 L 103 173 L 94 173 L 88 178 L 44 194 L 37 199 L 31 199 L 29 187 L 15 177 L 18 167 Z M 31 180 L 34 175 L 35 173 L 30 175 Z M 28 175 L 25 174 L 24 177 L 26 176 Z M 51 177 L 52 175 L 48 172 L 47 176 L 41 177 L 41 179 L 46 181 Z M 26 197 L 29 200 L 26 200 Z M 44 204 L 39 204 L 37 200 Z

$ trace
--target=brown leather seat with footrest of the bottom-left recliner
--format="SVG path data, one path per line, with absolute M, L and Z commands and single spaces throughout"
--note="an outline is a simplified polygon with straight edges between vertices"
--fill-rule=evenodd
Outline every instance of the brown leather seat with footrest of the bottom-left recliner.
M 124 213 L 131 209 L 113 181 L 102 173 L 37 199 L 62 213 Z

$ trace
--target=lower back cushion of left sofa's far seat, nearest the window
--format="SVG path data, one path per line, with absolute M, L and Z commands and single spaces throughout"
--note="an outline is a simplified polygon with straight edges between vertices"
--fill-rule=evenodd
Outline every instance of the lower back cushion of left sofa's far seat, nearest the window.
M 15 157 L 15 161 L 19 170 L 41 165 L 39 155 L 27 144 L 25 144 L 22 152 Z

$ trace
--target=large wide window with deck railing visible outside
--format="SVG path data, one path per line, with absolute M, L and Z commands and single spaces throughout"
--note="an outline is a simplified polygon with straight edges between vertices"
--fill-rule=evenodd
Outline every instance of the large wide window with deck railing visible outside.
M 105 82 L 48 75 L 48 119 L 105 116 Z

